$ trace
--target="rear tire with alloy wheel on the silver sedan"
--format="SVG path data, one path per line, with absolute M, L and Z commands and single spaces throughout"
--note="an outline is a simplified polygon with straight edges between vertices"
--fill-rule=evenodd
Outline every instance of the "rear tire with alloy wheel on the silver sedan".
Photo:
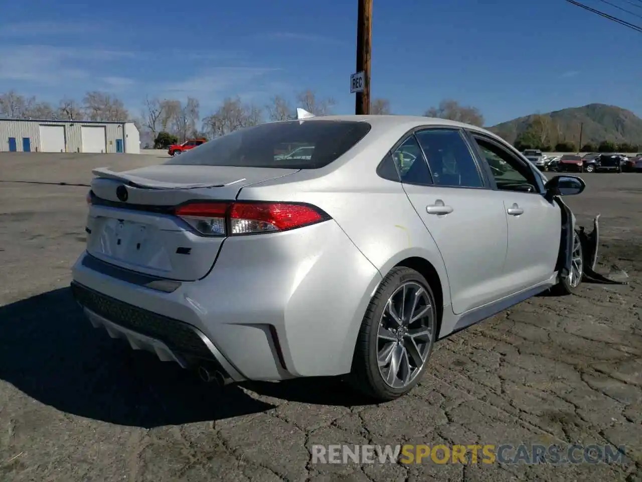
M 403 296 L 412 298 L 412 292 L 421 293 L 417 295 L 419 301 L 416 307 L 410 310 L 410 314 L 401 312 L 399 316 L 398 302 Z M 410 298 L 406 298 L 408 299 Z M 389 303 L 397 319 L 403 318 L 404 323 L 399 328 L 401 333 L 399 330 L 397 333 L 392 331 L 400 325 L 390 315 Z M 406 303 L 406 309 L 410 306 Z M 424 308 L 427 310 L 426 314 L 410 323 L 409 328 L 406 322 Z M 365 312 L 354 349 L 352 370 L 346 377 L 347 382 L 352 388 L 379 402 L 395 400 L 415 388 L 433 352 L 437 337 L 437 313 L 435 296 L 426 278 L 407 267 L 393 268 L 379 284 Z M 415 333 L 417 330 L 424 330 L 424 333 L 421 337 L 415 337 L 410 330 L 415 330 Z M 410 348 L 405 348 L 406 346 Z M 415 357 L 411 352 L 415 353 Z M 381 368 L 379 357 L 385 359 Z M 399 361 L 396 371 L 392 370 L 395 358 Z M 416 361 L 419 360 L 422 360 L 422 364 L 418 368 Z M 389 367 L 388 373 L 393 372 L 393 375 L 386 377 L 387 380 L 386 367 Z

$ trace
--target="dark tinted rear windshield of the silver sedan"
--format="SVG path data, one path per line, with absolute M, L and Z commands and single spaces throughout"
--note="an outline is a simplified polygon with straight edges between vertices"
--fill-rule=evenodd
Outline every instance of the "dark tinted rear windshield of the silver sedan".
M 285 121 L 239 129 L 173 157 L 168 165 L 318 169 L 370 131 L 356 121 Z

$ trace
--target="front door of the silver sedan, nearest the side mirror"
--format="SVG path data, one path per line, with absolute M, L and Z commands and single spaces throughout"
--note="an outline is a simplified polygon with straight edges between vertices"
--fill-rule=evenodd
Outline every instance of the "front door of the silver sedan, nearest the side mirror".
M 555 272 L 560 247 L 559 206 L 545 199 L 539 175 L 510 147 L 485 134 L 470 134 L 504 202 L 508 226 L 504 271 L 512 290 L 518 292 L 548 280 Z M 492 159 L 503 160 L 505 168 L 490 167 Z

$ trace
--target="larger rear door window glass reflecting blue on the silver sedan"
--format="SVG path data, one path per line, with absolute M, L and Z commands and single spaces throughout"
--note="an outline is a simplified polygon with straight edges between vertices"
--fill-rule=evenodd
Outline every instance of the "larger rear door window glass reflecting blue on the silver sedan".
M 438 186 L 482 188 L 482 175 L 458 130 L 426 129 L 417 132 L 433 182 Z

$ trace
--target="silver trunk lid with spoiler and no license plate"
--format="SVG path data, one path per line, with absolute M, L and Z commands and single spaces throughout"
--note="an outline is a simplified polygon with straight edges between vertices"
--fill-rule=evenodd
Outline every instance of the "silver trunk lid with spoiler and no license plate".
M 187 201 L 233 201 L 240 190 L 297 169 L 160 165 L 93 171 L 87 251 L 107 263 L 171 280 L 203 278 L 225 240 L 202 237 L 171 213 Z

